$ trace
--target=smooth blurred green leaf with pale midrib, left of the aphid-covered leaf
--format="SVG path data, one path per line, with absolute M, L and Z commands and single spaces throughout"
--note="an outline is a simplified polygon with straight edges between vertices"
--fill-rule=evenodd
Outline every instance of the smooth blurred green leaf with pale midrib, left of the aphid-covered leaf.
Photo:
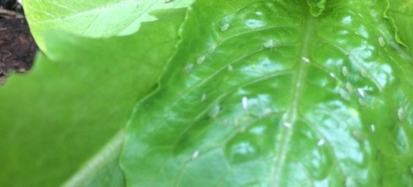
M 136 34 L 111 39 L 47 32 L 50 55 L 39 54 L 32 72 L 0 87 L 1 186 L 122 183 L 113 165 L 123 140 L 118 131 L 156 87 L 185 14 L 157 12 L 158 21 Z

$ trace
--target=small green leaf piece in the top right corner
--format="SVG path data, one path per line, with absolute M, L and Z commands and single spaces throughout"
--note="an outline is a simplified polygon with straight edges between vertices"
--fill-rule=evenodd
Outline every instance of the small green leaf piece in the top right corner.
M 397 34 L 401 41 L 409 47 L 410 54 L 413 54 L 413 1 L 390 1 L 388 14 L 394 18 L 394 23 L 398 29 Z

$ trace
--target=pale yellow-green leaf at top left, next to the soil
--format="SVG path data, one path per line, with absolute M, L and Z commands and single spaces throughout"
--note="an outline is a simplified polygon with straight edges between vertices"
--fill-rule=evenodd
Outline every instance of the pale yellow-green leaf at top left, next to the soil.
M 30 0 L 23 7 L 37 45 L 46 52 L 45 30 L 63 30 L 87 37 L 125 36 L 138 31 L 140 23 L 154 21 L 148 12 L 186 8 L 193 0 Z

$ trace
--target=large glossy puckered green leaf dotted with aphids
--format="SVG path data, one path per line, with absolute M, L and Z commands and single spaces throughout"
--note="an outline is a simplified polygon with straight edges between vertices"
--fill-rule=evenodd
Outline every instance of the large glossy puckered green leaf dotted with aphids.
M 386 5 L 195 1 L 127 126 L 127 184 L 413 186 L 413 65 Z

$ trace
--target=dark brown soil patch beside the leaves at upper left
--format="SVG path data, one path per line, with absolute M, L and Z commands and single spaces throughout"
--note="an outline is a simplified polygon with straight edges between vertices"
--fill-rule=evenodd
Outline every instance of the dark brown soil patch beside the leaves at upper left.
M 0 85 L 10 72 L 27 72 L 36 51 L 21 5 L 0 0 Z

